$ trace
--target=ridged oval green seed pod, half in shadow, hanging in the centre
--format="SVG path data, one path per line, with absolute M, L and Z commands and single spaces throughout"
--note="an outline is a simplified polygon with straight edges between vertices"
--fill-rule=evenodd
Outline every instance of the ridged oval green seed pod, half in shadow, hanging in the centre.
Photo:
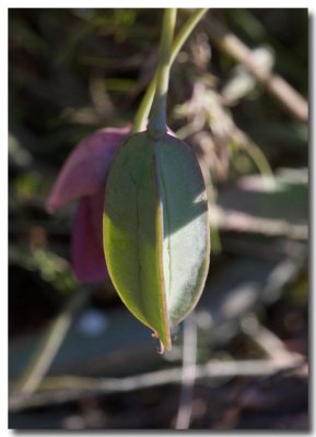
M 141 132 L 121 145 L 106 184 L 104 251 L 121 300 L 171 349 L 171 327 L 197 304 L 210 252 L 206 187 L 184 142 Z

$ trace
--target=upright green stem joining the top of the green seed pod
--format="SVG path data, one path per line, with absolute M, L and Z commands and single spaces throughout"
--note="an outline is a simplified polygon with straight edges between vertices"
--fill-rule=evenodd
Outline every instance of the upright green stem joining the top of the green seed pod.
M 175 8 L 165 9 L 156 71 L 155 94 L 148 125 L 149 133 L 153 138 L 161 138 L 166 132 L 166 102 L 176 15 L 177 10 Z

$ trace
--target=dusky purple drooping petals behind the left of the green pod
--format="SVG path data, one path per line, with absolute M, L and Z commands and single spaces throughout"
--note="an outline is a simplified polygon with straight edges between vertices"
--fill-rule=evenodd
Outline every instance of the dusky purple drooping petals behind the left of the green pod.
M 81 141 L 66 161 L 46 202 L 47 211 L 52 213 L 80 199 L 72 229 L 71 262 L 81 282 L 108 277 L 102 237 L 105 184 L 116 151 L 130 128 L 131 125 L 101 129 Z

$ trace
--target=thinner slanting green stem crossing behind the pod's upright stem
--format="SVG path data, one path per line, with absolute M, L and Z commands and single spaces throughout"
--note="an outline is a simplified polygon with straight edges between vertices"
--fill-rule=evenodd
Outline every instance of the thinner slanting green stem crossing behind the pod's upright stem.
M 171 52 L 171 58 L 169 58 L 169 63 L 171 66 L 175 61 L 176 57 L 178 56 L 180 49 L 183 48 L 184 44 L 192 33 L 194 28 L 198 24 L 198 22 L 201 20 L 201 17 L 206 14 L 208 9 L 198 9 L 196 10 L 192 15 L 187 20 L 187 22 L 183 25 L 178 34 L 176 35 L 173 45 L 172 45 L 172 52 Z M 145 122 L 149 117 L 150 108 L 152 106 L 153 102 L 153 96 L 155 92 L 155 85 L 156 85 L 156 74 L 153 76 L 151 80 L 147 92 L 143 96 L 143 99 L 140 104 L 140 107 L 137 111 L 137 115 L 133 120 L 133 128 L 132 132 L 139 132 L 143 129 L 145 129 Z

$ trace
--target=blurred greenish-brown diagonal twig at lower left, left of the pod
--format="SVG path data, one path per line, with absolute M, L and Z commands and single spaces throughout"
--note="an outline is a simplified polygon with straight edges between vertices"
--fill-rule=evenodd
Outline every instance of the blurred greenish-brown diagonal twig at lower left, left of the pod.
M 65 340 L 74 315 L 83 307 L 87 296 L 86 290 L 74 293 L 63 310 L 50 323 L 28 366 L 23 371 L 10 395 L 11 405 L 20 404 L 21 401 L 25 401 L 34 394 Z

